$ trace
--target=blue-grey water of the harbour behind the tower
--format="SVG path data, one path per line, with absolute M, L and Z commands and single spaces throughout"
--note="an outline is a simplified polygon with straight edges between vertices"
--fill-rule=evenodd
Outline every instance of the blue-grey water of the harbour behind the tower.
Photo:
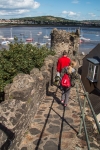
M 27 38 L 33 38 L 34 42 L 50 42 L 48 39 L 45 39 L 43 36 L 48 35 L 50 38 L 50 33 L 54 27 L 8 27 L 0 28 L 0 37 L 18 37 L 18 40 L 26 41 Z M 55 27 L 59 30 L 66 30 L 69 32 L 75 31 L 76 27 Z M 88 53 L 100 42 L 100 28 L 80 28 L 81 35 L 85 38 L 89 38 L 89 42 L 83 42 L 79 45 L 79 52 Z M 39 32 L 42 32 L 41 35 L 38 35 Z M 0 40 L 1 43 L 1 40 Z

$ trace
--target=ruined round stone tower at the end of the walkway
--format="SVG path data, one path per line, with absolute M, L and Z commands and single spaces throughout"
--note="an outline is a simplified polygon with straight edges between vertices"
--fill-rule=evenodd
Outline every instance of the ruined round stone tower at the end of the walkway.
M 73 57 L 79 52 L 79 30 L 75 33 L 66 32 L 66 30 L 57 30 L 51 32 L 51 46 L 57 52 L 66 50 L 70 57 Z

